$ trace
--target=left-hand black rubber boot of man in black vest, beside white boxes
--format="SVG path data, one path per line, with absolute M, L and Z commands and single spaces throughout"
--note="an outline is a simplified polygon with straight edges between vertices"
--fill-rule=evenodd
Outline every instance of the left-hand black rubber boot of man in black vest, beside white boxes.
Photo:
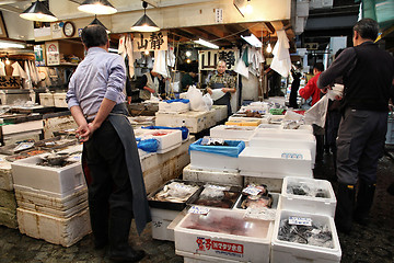
M 338 184 L 335 225 L 340 232 L 349 233 L 351 231 L 355 195 L 355 185 Z

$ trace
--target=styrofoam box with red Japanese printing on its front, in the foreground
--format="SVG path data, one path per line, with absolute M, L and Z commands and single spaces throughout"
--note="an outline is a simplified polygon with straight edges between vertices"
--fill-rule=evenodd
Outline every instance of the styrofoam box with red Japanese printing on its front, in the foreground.
M 208 255 L 220 260 L 268 263 L 273 225 L 266 220 L 243 219 L 244 214 L 220 208 L 211 208 L 207 215 L 187 214 L 175 227 L 176 253 L 190 253 L 193 259 Z M 204 222 L 215 229 L 218 224 L 234 220 L 244 221 L 245 232 L 230 235 L 193 229 L 195 224 Z

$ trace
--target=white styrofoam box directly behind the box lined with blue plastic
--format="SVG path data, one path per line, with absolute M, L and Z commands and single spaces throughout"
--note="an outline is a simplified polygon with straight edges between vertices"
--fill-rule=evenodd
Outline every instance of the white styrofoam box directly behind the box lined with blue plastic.
M 256 127 L 236 126 L 236 125 L 219 125 L 209 130 L 210 137 L 223 138 L 231 140 L 248 140 L 255 133 Z

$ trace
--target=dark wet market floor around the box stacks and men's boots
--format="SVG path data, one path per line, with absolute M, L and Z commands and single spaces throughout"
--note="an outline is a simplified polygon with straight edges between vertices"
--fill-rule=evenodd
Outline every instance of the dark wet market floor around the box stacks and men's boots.
M 393 155 L 393 150 L 391 153 Z M 394 155 L 393 155 L 394 156 Z M 314 170 L 315 178 L 329 180 L 333 174 L 331 156 L 325 155 L 324 162 Z M 371 225 L 362 227 L 355 225 L 350 235 L 339 233 L 343 250 L 341 262 L 394 262 L 394 196 L 386 192 L 394 182 L 394 159 L 389 155 L 379 163 L 378 186 L 374 205 L 371 213 Z M 336 183 L 333 182 L 334 188 Z M 143 249 L 147 256 L 141 261 L 148 262 L 183 262 L 183 258 L 175 255 L 174 243 L 153 240 L 150 226 L 140 238 L 132 227 L 130 242 L 138 249 Z M 105 250 L 93 249 L 92 235 L 70 248 L 55 245 L 43 240 L 36 240 L 19 230 L 0 226 L 0 262 L 111 262 Z

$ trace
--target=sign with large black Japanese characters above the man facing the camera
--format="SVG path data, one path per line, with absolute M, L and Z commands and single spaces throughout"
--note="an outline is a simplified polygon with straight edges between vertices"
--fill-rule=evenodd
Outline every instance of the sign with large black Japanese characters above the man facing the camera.
M 202 50 L 199 52 L 198 68 L 200 70 L 213 70 L 219 60 L 224 60 L 227 68 L 233 70 L 236 64 L 236 50 Z

